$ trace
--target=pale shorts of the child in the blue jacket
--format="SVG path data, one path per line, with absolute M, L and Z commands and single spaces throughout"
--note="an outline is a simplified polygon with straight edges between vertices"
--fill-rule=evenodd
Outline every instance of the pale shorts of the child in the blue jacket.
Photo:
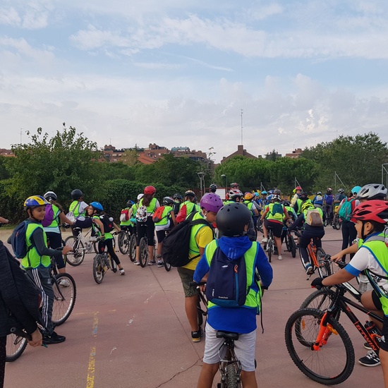
M 207 364 L 217 364 L 220 360 L 219 348 L 221 348 L 224 339 L 217 338 L 217 330 L 214 330 L 209 323 L 206 323 L 205 353 L 203 362 Z M 247 334 L 240 334 L 238 341 L 234 341 L 234 351 L 238 360 L 241 362 L 241 369 L 245 372 L 255 371 L 255 348 L 256 348 L 256 330 Z M 224 353 L 221 354 L 221 357 Z

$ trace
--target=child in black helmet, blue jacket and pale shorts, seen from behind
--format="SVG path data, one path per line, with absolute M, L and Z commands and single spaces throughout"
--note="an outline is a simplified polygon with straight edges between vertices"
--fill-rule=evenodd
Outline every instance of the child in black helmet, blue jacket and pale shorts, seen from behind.
M 205 354 L 202 370 L 198 380 L 198 388 L 211 388 L 214 375 L 219 368 L 219 348 L 223 339 L 216 337 L 217 330 L 236 332 L 240 336 L 235 342 L 236 356 L 241 361 L 241 380 L 243 387 L 257 387 L 255 377 L 255 344 L 256 344 L 256 315 L 259 310 L 256 294 L 259 291 L 253 276 L 255 269 L 260 274 L 262 286 L 267 288 L 272 282 L 272 267 L 267 256 L 257 242 L 250 241 L 246 232 L 250 224 L 250 211 L 243 204 L 235 203 L 224 205 L 216 217 L 217 227 L 222 234 L 218 241 L 207 244 L 195 269 L 194 281 L 199 283 L 202 278 L 214 270 L 212 260 L 216 256 L 217 245 L 222 253 L 232 262 L 243 256 L 247 271 L 247 286 L 250 291 L 245 304 L 238 307 L 222 307 L 208 303 L 206 324 Z

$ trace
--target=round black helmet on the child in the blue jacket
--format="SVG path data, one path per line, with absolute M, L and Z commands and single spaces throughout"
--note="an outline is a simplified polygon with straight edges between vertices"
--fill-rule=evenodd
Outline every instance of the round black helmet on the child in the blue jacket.
M 250 220 L 250 210 L 243 203 L 228 203 L 217 213 L 216 224 L 222 236 L 233 237 L 243 234 Z

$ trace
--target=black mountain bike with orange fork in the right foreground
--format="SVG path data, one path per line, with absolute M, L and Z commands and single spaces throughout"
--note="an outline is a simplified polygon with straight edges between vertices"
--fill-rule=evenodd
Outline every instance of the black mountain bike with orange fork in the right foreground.
M 329 308 L 297 310 L 286 323 L 284 337 L 289 355 L 301 372 L 315 382 L 333 385 L 344 382 L 351 375 L 355 363 L 353 344 L 338 322 L 339 314 L 348 316 L 373 351 L 380 348 L 381 336 L 368 332 L 349 306 L 378 322 L 383 319 L 358 301 L 346 298 L 344 294 L 349 291 L 348 284 L 337 284 L 334 290 L 328 290 Z

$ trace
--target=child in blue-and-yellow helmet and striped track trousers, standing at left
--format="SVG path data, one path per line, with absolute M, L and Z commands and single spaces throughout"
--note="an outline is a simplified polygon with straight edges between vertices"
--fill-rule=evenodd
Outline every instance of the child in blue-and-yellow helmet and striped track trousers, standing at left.
M 32 195 L 24 202 L 24 208 L 28 214 L 28 225 L 25 232 L 28 253 L 23 257 L 21 265 L 42 292 L 42 318 L 46 328 L 43 331 L 43 344 L 59 344 L 65 341 L 66 337 L 54 332 L 54 325 L 51 320 L 54 291 L 50 281 L 50 257 L 54 256 L 56 260 L 61 260 L 62 255 L 66 255 L 71 251 L 71 247 L 47 248 L 47 236 L 43 230 L 42 219 L 44 219 L 46 205 L 48 204 L 49 202 L 41 195 Z

